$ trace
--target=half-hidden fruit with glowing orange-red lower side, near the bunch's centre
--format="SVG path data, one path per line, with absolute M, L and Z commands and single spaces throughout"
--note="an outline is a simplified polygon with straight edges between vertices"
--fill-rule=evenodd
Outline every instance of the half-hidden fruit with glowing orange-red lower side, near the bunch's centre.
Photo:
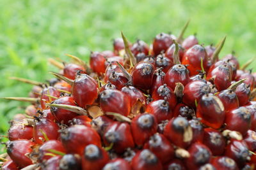
M 146 103 L 146 99 L 143 92 L 141 92 L 141 90 L 137 89 L 136 87 L 127 85 L 123 87 L 121 91 L 129 97 L 131 107 L 134 106 L 134 104 L 136 104 L 137 101 L 141 101 L 141 103 Z

